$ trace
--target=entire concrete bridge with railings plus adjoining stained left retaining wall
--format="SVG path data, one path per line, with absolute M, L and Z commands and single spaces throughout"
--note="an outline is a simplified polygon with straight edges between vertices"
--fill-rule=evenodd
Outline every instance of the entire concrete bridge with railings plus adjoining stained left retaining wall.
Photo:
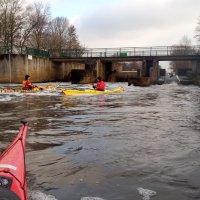
M 20 48 L 21 49 L 21 48 Z M 84 50 L 37 50 L 0 52 L 0 82 L 21 82 L 30 74 L 34 82 L 93 82 L 96 76 L 106 81 L 130 80 L 149 85 L 160 75 L 160 61 L 199 61 L 197 46 L 155 46 L 129 48 L 86 48 Z M 137 62 L 134 70 L 123 71 L 122 62 Z M 199 62 L 196 62 L 199 63 Z M 194 70 L 199 72 L 199 66 Z M 120 79 L 121 78 L 121 79 Z

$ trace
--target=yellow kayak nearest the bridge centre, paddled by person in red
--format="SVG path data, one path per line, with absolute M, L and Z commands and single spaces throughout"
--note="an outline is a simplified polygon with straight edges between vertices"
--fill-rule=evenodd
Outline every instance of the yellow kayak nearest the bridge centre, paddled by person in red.
M 85 94 L 91 94 L 91 95 L 95 95 L 95 94 L 112 94 L 112 93 L 120 93 L 123 92 L 124 88 L 120 87 L 120 88 L 116 88 L 116 89 L 112 89 L 112 90 L 105 90 L 105 91 L 99 91 L 99 90 L 94 90 L 94 89 L 86 89 L 86 90 L 70 90 L 70 89 L 63 89 L 62 92 L 65 95 L 68 96 L 72 96 L 72 95 L 85 95 Z

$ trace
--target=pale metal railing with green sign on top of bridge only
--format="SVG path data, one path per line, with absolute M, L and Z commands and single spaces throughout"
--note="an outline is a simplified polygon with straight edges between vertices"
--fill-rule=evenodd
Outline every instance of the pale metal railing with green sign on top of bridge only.
M 53 49 L 49 56 L 53 58 L 89 58 L 89 57 L 127 57 L 127 56 L 184 56 L 200 55 L 198 46 L 155 46 L 155 47 L 124 47 L 124 48 L 86 48 Z

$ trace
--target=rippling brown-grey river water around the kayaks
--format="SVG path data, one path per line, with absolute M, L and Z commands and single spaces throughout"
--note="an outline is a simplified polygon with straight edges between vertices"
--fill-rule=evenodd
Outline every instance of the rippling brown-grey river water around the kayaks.
M 1 151 L 29 122 L 30 200 L 200 199 L 200 88 L 107 83 L 119 86 L 110 95 L 0 94 Z

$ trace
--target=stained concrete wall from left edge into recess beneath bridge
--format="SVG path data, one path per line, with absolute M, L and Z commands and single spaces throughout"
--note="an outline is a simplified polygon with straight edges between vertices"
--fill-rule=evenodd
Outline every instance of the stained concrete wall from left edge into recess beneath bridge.
M 29 74 L 32 82 L 68 80 L 71 70 L 85 69 L 80 63 L 54 63 L 48 58 L 0 55 L 0 83 L 21 83 Z

